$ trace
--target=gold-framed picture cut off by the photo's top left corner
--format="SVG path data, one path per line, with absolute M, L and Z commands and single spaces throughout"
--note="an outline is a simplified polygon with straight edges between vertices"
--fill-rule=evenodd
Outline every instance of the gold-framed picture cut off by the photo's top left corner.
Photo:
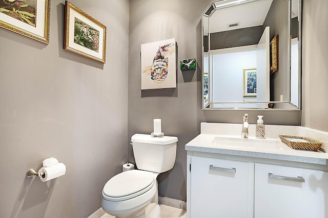
M 0 1 L 0 27 L 49 44 L 50 0 Z

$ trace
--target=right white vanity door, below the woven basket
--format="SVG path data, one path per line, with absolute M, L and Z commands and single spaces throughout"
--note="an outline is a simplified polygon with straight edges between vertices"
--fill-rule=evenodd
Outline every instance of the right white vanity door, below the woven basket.
M 328 217 L 328 173 L 255 163 L 255 218 Z

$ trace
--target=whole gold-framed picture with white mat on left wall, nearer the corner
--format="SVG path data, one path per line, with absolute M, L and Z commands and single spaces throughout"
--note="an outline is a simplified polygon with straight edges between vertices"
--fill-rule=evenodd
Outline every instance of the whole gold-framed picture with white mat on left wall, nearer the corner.
M 106 63 L 106 27 L 65 1 L 64 49 Z

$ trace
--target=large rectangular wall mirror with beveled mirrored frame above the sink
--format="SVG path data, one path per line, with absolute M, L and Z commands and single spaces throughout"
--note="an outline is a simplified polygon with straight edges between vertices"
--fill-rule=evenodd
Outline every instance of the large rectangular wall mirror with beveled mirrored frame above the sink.
M 202 108 L 300 110 L 302 0 L 219 0 L 202 14 Z

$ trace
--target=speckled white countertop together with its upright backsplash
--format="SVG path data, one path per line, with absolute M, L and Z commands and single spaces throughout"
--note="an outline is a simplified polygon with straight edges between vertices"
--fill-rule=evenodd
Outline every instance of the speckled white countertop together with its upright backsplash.
M 227 131 L 227 127 L 231 131 Z M 322 148 L 326 150 L 326 138 L 328 134 L 325 132 L 311 130 L 313 133 L 308 133 L 310 130 L 302 129 L 302 127 L 284 126 L 284 128 L 281 128 L 282 126 L 275 127 L 272 125 L 268 129 L 283 130 L 283 132 L 273 133 L 272 131 L 268 135 L 274 137 L 265 139 L 255 138 L 252 134 L 250 134 L 251 136 L 249 138 L 241 138 L 241 136 L 237 136 L 236 134 L 229 135 L 229 132 L 236 132 L 233 131 L 234 129 L 239 133 L 240 127 L 241 125 L 238 124 L 201 123 L 201 134 L 188 142 L 185 150 L 328 165 L 328 153 L 294 150 L 282 143 L 279 138 L 279 134 L 303 136 L 316 136 L 317 134 L 318 136 L 316 138 L 320 137 L 319 139 L 321 141 L 324 140 L 324 146 Z M 224 131 L 221 131 L 222 129 Z M 288 131 L 289 129 L 292 132 Z M 307 132 L 304 132 L 304 129 Z

